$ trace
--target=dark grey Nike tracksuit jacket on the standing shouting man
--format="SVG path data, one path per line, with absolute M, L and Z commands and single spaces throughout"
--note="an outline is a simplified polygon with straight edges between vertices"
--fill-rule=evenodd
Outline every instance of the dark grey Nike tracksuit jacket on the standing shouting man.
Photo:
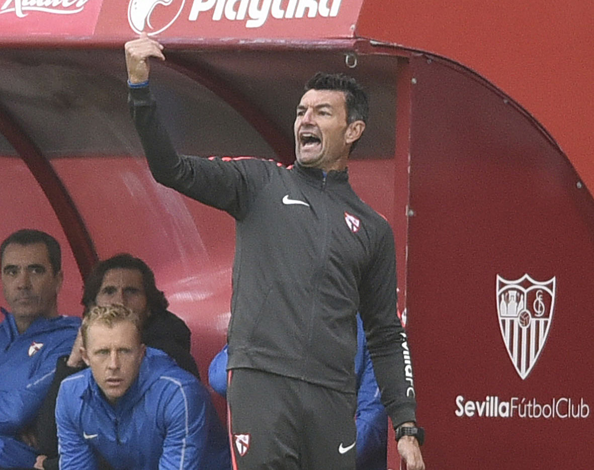
M 355 393 L 359 311 L 394 427 L 415 421 L 393 233 L 347 171 L 181 156 L 148 87 L 129 90 L 129 106 L 156 181 L 235 217 L 228 367 Z

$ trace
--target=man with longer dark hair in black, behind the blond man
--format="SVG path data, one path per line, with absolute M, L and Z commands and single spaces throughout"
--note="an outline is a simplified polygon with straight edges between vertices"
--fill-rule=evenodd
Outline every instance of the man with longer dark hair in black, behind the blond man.
M 81 303 L 86 311 L 94 305 L 122 304 L 128 307 L 143 322 L 143 343 L 166 352 L 179 367 L 200 380 L 198 367 L 190 353 L 190 330 L 184 320 L 167 310 L 169 302 L 165 294 L 157 289 L 153 271 L 140 258 L 121 253 L 97 263 L 84 284 Z M 79 335 L 70 355 L 58 360 L 54 381 L 39 413 L 40 457 L 37 465 L 43 465 L 45 470 L 58 468 L 53 411 L 61 381 L 86 367 L 80 346 Z

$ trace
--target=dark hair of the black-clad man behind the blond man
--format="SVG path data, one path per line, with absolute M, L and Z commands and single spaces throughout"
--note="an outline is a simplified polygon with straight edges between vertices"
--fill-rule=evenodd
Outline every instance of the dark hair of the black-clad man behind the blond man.
M 86 310 L 95 305 L 95 299 L 103 283 L 105 273 L 112 269 L 137 269 L 143 276 L 144 294 L 147 296 L 147 305 L 151 312 L 166 310 L 169 302 L 163 291 L 159 291 L 155 284 L 153 270 L 140 258 L 129 253 L 119 253 L 111 258 L 99 261 L 91 270 L 89 277 L 84 283 L 83 299 L 81 304 Z

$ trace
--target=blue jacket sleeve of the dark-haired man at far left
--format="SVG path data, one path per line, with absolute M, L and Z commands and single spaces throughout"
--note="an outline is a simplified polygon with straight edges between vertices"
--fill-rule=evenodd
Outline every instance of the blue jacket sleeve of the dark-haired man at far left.
M 74 336 L 75 333 L 46 351 L 42 349 L 39 367 L 25 386 L 0 390 L 0 434 L 15 434 L 33 421 L 52 383 L 56 361 L 70 353 Z

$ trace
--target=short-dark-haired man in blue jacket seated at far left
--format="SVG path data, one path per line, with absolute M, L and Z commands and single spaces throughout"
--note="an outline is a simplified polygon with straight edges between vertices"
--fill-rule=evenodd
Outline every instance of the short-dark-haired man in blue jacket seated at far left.
M 0 324 L 0 468 L 35 464 L 31 428 L 52 383 L 58 357 L 68 354 L 80 318 L 58 314 L 60 245 L 23 229 L 0 245 L 2 289 L 10 313 Z

